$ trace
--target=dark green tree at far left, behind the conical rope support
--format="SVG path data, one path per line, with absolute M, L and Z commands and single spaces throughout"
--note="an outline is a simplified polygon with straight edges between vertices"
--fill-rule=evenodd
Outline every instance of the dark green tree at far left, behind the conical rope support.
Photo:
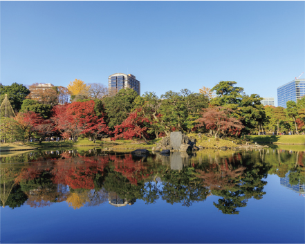
M 0 85 L 0 104 L 4 99 L 4 95 L 8 94 L 8 100 L 12 105 L 12 109 L 19 111 L 21 109 L 21 104 L 24 101 L 25 97 L 30 93 L 28 88 L 23 84 L 17 84 L 16 82 L 10 86 Z

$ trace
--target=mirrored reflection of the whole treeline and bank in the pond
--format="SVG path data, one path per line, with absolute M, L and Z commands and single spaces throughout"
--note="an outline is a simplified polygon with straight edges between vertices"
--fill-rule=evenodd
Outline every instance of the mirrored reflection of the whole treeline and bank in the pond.
M 264 197 L 268 173 L 304 194 L 302 151 L 205 150 L 144 158 L 99 150 L 33 151 L 1 158 L 1 205 L 13 209 L 66 202 L 80 209 L 164 200 L 190 207 L 213 195 L 223 214 L 239 214 L 248 200 Z

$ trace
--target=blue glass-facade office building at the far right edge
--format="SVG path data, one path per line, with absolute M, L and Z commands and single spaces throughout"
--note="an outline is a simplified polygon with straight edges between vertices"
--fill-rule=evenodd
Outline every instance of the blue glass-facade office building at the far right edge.
M 305 79 L 295 79 L 277 88 L 277 106 L 286 108 L 286 102 L 295 101 L 305 95 Z

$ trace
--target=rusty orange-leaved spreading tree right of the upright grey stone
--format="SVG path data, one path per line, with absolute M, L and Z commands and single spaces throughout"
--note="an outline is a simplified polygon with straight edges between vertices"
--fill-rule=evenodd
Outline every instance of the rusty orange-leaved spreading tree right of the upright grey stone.
M 196 120 L 196 127 L 205 126 L 206 129 L 216 131 L 215 138 L 221 134 L 226 135 L 234 129 L 243 129 L 243 124 L 235 118 L 230 117 L 232 109 L 225 109 L 221 106 L 203 109 L 202 117 Z

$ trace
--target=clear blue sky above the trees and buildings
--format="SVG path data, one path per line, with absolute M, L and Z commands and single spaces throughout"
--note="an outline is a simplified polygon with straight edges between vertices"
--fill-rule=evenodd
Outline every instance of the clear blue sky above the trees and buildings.
M 233 80 L 277 104 L 305 71 L 304 13 L 304 1 L 1 1 L 1 83 L 119 72 L 160 96 Z

